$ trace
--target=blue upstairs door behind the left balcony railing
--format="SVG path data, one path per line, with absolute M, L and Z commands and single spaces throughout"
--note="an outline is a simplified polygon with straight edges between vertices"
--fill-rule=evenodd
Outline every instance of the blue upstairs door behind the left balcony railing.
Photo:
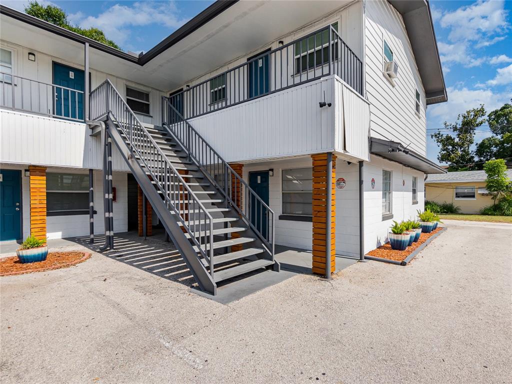
M 54 114 L 65 119 L 83 120 L 83 93 L 72 91 L 83 92 L 83 71 L 54 62 L 53 84 L 56 86 Z

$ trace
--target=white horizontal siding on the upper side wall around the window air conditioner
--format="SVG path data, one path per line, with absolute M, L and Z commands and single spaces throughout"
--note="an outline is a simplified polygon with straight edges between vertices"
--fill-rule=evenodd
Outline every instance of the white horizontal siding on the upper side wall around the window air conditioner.
M 400 14 L 387 1 L 366 2 L 366 95 L 371 103 L 371 136 L 396 140 L 426 154 L 425 93 Z M 398 63 L 393 86 L 383 73 L 383 40 Z M 415 112 L 415 90 L 421 97 Z

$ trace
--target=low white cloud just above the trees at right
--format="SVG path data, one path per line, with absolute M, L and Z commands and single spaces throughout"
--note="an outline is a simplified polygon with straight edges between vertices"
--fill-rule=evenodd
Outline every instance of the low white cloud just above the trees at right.
M 497 93 L 491 89 L 473 90 L 465 87 L 460 89 L 449 87 L 446 91 L 448 93 L 447 102 L 429 106 L 429 125 L 435 120 L 438 120 L 439 123 L 455 121 L 457 115 L 468 109 L 478 108 L 480 104 L 484 104 L 485 110 L 489 112 L 500 108 L 510 99 L 507 92 Z

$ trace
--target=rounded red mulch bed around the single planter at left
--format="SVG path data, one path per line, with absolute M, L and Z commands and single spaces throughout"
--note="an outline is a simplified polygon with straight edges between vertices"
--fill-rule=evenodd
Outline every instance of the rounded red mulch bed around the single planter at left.
M 49 271 L 51 269 L 67 268 L 86 261 L 91 253 L 85 252 L 48 252 L 45 261 L 35 263 L 20 263 L 17 256 L 0 260 L 0 276 Z

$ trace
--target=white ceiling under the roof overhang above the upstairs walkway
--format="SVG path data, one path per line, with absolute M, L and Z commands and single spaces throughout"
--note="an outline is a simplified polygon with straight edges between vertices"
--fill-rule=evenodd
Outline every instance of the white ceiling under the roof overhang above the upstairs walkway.
M 350 1 L 241 1 L 144 66 L 96 49 L 90 68 L 162 91 L 298 29 Z M 83 44 L 2 14 L 2 40 L 83 65 Z

